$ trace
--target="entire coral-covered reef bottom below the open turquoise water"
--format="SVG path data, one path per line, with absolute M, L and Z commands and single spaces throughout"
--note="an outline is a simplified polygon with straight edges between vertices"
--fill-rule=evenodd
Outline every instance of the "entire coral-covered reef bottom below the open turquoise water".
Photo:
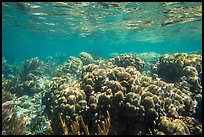
M 2 134 L 202 134 L 201 54 L 63 59 L 3 58 Z

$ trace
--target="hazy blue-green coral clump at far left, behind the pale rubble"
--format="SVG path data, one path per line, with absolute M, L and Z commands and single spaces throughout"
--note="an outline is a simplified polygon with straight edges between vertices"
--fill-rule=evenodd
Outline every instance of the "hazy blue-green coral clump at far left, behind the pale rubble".
M 42 68 L 43 62 L 38 58 L 25 61 L 22 72 L 16 77 L 5 81 L 3 88 L 11 93 L 16 93 L 18 96 L 24 94 L 33 95 L 42 91 L 44 83 L 47 82 Z

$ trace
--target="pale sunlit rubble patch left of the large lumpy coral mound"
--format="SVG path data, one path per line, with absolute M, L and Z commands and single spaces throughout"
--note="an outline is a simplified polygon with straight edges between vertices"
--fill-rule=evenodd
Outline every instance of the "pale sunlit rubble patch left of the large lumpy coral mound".
M 36 93 L 34 97 L 23 95 L 15 98 L 15 108 L 18 115 L 23 115 L 25 123 L 32 135 L 43 135 L 52 132 L 50 121 L 44 115 L 45 106 L 41 102 L 42 92 Z

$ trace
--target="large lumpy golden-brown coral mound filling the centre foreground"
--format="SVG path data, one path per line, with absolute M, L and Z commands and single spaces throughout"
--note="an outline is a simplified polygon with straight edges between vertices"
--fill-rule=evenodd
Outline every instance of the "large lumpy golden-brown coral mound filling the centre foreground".
M 173 60 L 165 57 L 163 62 Z M 201 92 L 194 90 L 192 93 L 194 80 L 190 82 L 190 79 L 198 78 L 200 73 L 191 65 L 182 69 L 182 75 L 187 76 L 181 78 L 180 83 L 166 83 L 156 76 L 144 76 L 134 65 L 104 67 L 88 64 L 83 66 L 78 84 L 70 84 L 63 77 L 51 80 L 44 102 L 50 111 L 48 114 L 53 115 L 53 123 L 60 121 L 54 121 L 58 112 L 65 119 L 61 120 L 62 125 L 72 123 L 67 125 L 70 134 L 191 134 L 195 130 L 189 130 L 191 126 L 186 126 L 179 117 L 196 114 L 196 103 L 202 101 L 202 97 Z M 110 114 L 105 114 L 106 111 Z M 110 115 L 111 119 L 106 119 Z M 85 122 L 79 124 L 80 116 L 87 126 L 82 124 Z M 89 132 L 85 133 L 81 126 Z M 60 128 L 56 124 L 54 127 Z

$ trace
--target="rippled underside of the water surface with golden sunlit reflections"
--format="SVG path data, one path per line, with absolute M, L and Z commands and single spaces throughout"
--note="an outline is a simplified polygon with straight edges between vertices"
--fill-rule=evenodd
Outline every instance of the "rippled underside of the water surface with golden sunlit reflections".
M 16 2 L 3 3 L 2 15 L 3 27 L 63 39 L 106 40 L 110 33 L 111 39 L 157 43 L 202 34 L 199 2 Z

